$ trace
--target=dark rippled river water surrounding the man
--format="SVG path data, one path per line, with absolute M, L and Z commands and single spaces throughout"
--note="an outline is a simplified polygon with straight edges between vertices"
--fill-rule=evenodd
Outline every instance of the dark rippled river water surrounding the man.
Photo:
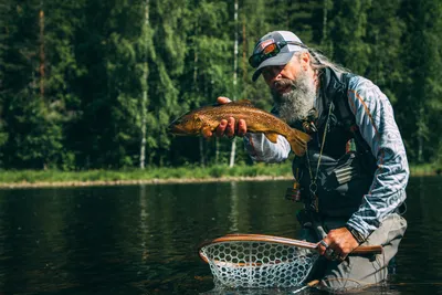
M 207 293 L 199 243 L 234 232 L 295 236 L 301 206 L 283 198 L 290 185 L 0 190 L 0 294 Z M 396 274 L 366 294 L 442 294 L 441 177 L 410 180 L 406 218 Z

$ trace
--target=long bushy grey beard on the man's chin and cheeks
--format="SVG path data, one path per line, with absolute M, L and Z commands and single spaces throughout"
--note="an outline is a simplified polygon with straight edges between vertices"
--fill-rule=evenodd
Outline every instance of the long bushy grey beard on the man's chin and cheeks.
M 316 86 L 313 77 L 303 72 L 295 81 L 283 78 L 275 82 L 275 85 L 277 83 L 292 86 L 292 91 L 283 94 L 271 88 L 278 116 L 290 125 L 305 119 L 315 104 Z

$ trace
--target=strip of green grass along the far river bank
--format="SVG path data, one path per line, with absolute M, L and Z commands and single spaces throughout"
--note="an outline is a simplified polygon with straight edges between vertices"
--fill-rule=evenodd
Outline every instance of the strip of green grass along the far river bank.
M 433 165 L 410 167 L 411 176 L 435 175 Z M 199 167 L 186 166 L 179 168 L 146 168 L 123 170 L 0 170 L 0 183 L 36 183 L 36 182 L 91 182 L 91 181 L 125 181 L 155 179 L 209 179 L 222 177 L 292 177 L 291 162 L 255 164 L 253 166 L 227 165 Z

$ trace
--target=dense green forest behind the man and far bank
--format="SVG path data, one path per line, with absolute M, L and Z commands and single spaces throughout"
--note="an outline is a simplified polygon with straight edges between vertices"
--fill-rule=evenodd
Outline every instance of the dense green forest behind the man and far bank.
M 441 15 L 440 0 L 0 0 L 0 168 L 251 165 L 241 139 L 167 127 L 218 96 L 270 110 L 248 59 L 273 30 L 373 81 L 409 161 L 441 164 Z

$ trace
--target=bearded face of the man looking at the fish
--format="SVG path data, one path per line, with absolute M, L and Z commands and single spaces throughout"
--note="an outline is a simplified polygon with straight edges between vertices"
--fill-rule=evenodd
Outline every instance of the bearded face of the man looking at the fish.
M 294 55 L 285 66 L 267 66 L 262 71 L 271 88 L 275 108 L 288 124 L 301 120 L 314 107 L 316 85 L 308 56 Z

